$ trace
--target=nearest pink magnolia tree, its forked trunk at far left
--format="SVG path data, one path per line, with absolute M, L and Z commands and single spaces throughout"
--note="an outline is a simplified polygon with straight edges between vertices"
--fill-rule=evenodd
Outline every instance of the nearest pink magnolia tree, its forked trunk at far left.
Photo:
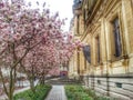
M 0 1 L 0 77 L 9 100 L 13 97 L 17 67 L 38 44 L 49 44 L 48 41 L 52 37 L 52 22 L 57 18 L 57 14 L 50 18 L 47 9 L 40 14 L 38 10 L 24 7 L 24 2 L 18 0 L 11 3 Z M 55 27 L 60 29 L 60 24 Z M 6 86 L 1 71 L 6 67 L 10 69 L 9 86 Z

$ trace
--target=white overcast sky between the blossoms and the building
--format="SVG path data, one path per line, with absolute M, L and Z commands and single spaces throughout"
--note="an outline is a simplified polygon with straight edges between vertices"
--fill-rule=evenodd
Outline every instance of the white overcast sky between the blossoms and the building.
M 73 0 L 25 0 L 25 1 L 30 1 L 32 3 L 35 3 L 37 1 L 39 1 L 41 4 L 43 2 L 47 2 L 47 7 L 50 8 L 50 10 L 52 12 L 59 12 L 60 18 L 64 19 L 68 18 L 66 20 L 66 24 L 63 28 L 65 31 L 69 31 L 69 27 L 70 27 L 70 21 L 72 16 L 72 4 L 73 4 Z

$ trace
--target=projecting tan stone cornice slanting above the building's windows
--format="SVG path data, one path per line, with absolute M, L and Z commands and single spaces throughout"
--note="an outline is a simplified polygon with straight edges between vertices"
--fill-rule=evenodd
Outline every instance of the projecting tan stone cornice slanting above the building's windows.
M 94 31 L 94 30 L 96 30 L 96 28 L 99 28 L 100 18 L 105 17 L 105 14 L 108 14 L 111 11 L 113 6 L 120 1 L 121 0 L 108 0 L 108 1 L 103 2 L 103 0 L 98 0 L 91 16 L 88 18 L 88 22 L 86 22 L 88 27 L 85 28 L 83 34 L 81 36 L 81 41 L 83 41 L 85 39 L 88 33 L 90 33 L 90 30 L 93 29 L 93 31 Z

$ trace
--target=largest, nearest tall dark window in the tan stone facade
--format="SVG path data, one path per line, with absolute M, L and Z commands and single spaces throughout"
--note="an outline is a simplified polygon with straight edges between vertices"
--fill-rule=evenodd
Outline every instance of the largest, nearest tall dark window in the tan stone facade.
M 122 47 L 121 47 L 121 37 L 120 37 L 120 24 L 119 24 L 119 18 L 115 18 L 112 21 L 113 24 L 113 34 L 114 34 L 114 43 L 115 43 L 115 57 L 120 57 L 122 53 Z

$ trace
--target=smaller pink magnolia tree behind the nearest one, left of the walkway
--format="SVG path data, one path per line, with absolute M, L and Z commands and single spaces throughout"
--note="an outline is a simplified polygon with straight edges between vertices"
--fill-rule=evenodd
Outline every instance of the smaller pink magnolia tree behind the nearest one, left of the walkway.
M 54 67 L 58 67 L 57 59 L 53 46 L 39 44 L 21 61 L 21 68 L 27 73 L 33 92 L 35 92 L 34 78 L 44 83 L 45 74 Z

